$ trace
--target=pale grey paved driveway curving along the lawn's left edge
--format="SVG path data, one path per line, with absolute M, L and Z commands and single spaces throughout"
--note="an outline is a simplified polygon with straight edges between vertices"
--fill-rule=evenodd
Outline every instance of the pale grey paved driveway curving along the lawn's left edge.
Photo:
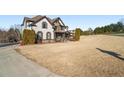
M 59 76 L 17 53 L 14 50 L 16 47 L 18 47 L 18 45 L 0 48 L 1 77 Z

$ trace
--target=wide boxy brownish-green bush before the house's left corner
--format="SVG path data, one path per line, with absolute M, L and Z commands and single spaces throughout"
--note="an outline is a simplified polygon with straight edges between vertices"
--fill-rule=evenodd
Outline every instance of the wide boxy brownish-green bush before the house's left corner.
M 22 43 L 24 45 L 34 44 L 35 43 L 35 31 L 24 29 Z

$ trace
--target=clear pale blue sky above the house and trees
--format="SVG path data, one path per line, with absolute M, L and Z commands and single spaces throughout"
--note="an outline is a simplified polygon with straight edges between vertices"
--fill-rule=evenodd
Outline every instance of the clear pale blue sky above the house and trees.
M 32 17 L 31 15 L 2 15 L 0 16 L 0 28 L 9 28 L 14 24 L 22 24 L 23 18 Z M 60 17 L 69 29 L 80 27 L 83 30 L 89 27 L 104 26 L 116 23 L 124 18 L 123 15 L 49 15 L 50 18 Z

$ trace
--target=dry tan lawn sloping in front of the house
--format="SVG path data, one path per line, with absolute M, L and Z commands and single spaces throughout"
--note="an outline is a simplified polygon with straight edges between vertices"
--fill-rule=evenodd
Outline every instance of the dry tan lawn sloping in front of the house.
M 77 42 L 20 46 L 17 50 L 63 76 L 124 76 L 124 37 L 82 36 Z

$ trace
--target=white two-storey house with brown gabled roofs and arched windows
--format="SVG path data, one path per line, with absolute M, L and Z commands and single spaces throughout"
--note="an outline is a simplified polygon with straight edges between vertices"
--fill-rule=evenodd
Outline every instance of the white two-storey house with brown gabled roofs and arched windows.
M 33 29 L 37 35 L 37 40 L 64 40 L 68 26 L 64 24 L 60 17 L 51 19 L 47 16 L 24 17 L 22 30 Z

